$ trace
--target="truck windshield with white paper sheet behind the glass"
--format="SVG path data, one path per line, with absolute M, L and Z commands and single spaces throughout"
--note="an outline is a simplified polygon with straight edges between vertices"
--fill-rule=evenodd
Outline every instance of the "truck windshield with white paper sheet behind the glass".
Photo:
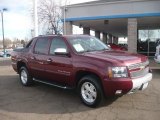
M 78 53 L 110 49 L 99 39 L 92 36 L 71 37 L 69 38 L 69 42 Z

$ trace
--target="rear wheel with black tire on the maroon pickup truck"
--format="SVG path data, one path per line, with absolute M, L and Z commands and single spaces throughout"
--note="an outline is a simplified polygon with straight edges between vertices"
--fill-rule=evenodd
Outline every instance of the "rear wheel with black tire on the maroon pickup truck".
M 26 67 L 20 68 L 19 78 L 23 86 L 30 86 L 33 84 L 32 77 L 30 76 Z

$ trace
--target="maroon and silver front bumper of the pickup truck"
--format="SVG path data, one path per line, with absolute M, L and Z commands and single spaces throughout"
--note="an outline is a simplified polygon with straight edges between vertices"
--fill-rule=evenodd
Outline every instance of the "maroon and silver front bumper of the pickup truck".
M 119 79 L 104 79 L 103 88 L 106 96 L 114 96 L 116 94 L 133 93 L 138 90 L 147 88 L 149 81 L 152 80 L 152 73 L 148 73 L 140 78 L 119 78 Z

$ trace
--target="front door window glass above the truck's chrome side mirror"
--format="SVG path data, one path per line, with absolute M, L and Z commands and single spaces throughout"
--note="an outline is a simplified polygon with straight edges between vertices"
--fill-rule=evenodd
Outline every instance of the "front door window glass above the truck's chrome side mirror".
M 67 51 L 66 43 L 61 38 L 54 38 L 51 42 L 50 54 L 55 55 L 55 50 L 58 48 L 65 49 Z

